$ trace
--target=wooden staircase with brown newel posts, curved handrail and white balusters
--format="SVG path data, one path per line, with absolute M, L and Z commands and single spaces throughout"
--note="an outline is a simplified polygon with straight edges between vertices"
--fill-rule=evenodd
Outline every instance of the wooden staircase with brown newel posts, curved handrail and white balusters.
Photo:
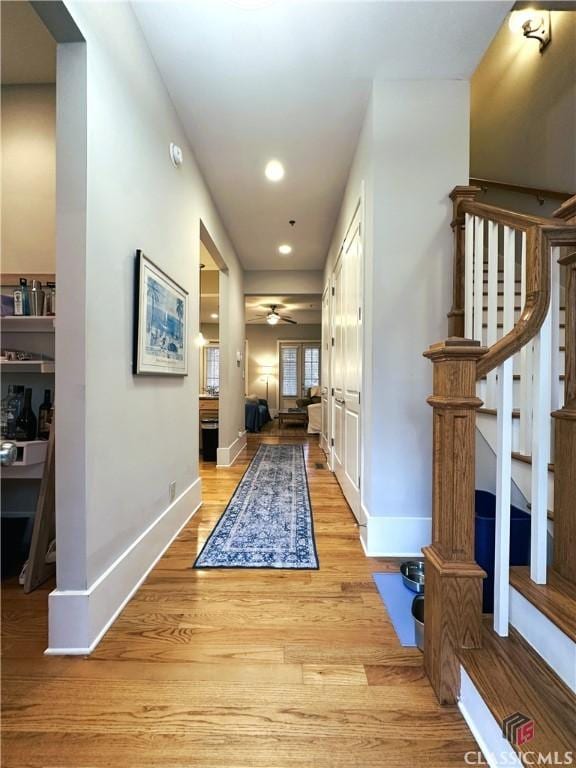
M 538 219 L 479 204 L 477 192 L 457 187 L 451 194 L 451 338 L 425 353 L 434 364 L 425 668 L 439 700 L 459 704 L 490 766 L 571 765 L 576 196 L 553 219 Z M 482 616 L 484 574 L 474 562 L 476 427 L 496 456 L 493 618 Z M 532 518 L 529 567 L 509 566 L 513 482 Z M 554 557 L 547 563 L 550 531 Z

